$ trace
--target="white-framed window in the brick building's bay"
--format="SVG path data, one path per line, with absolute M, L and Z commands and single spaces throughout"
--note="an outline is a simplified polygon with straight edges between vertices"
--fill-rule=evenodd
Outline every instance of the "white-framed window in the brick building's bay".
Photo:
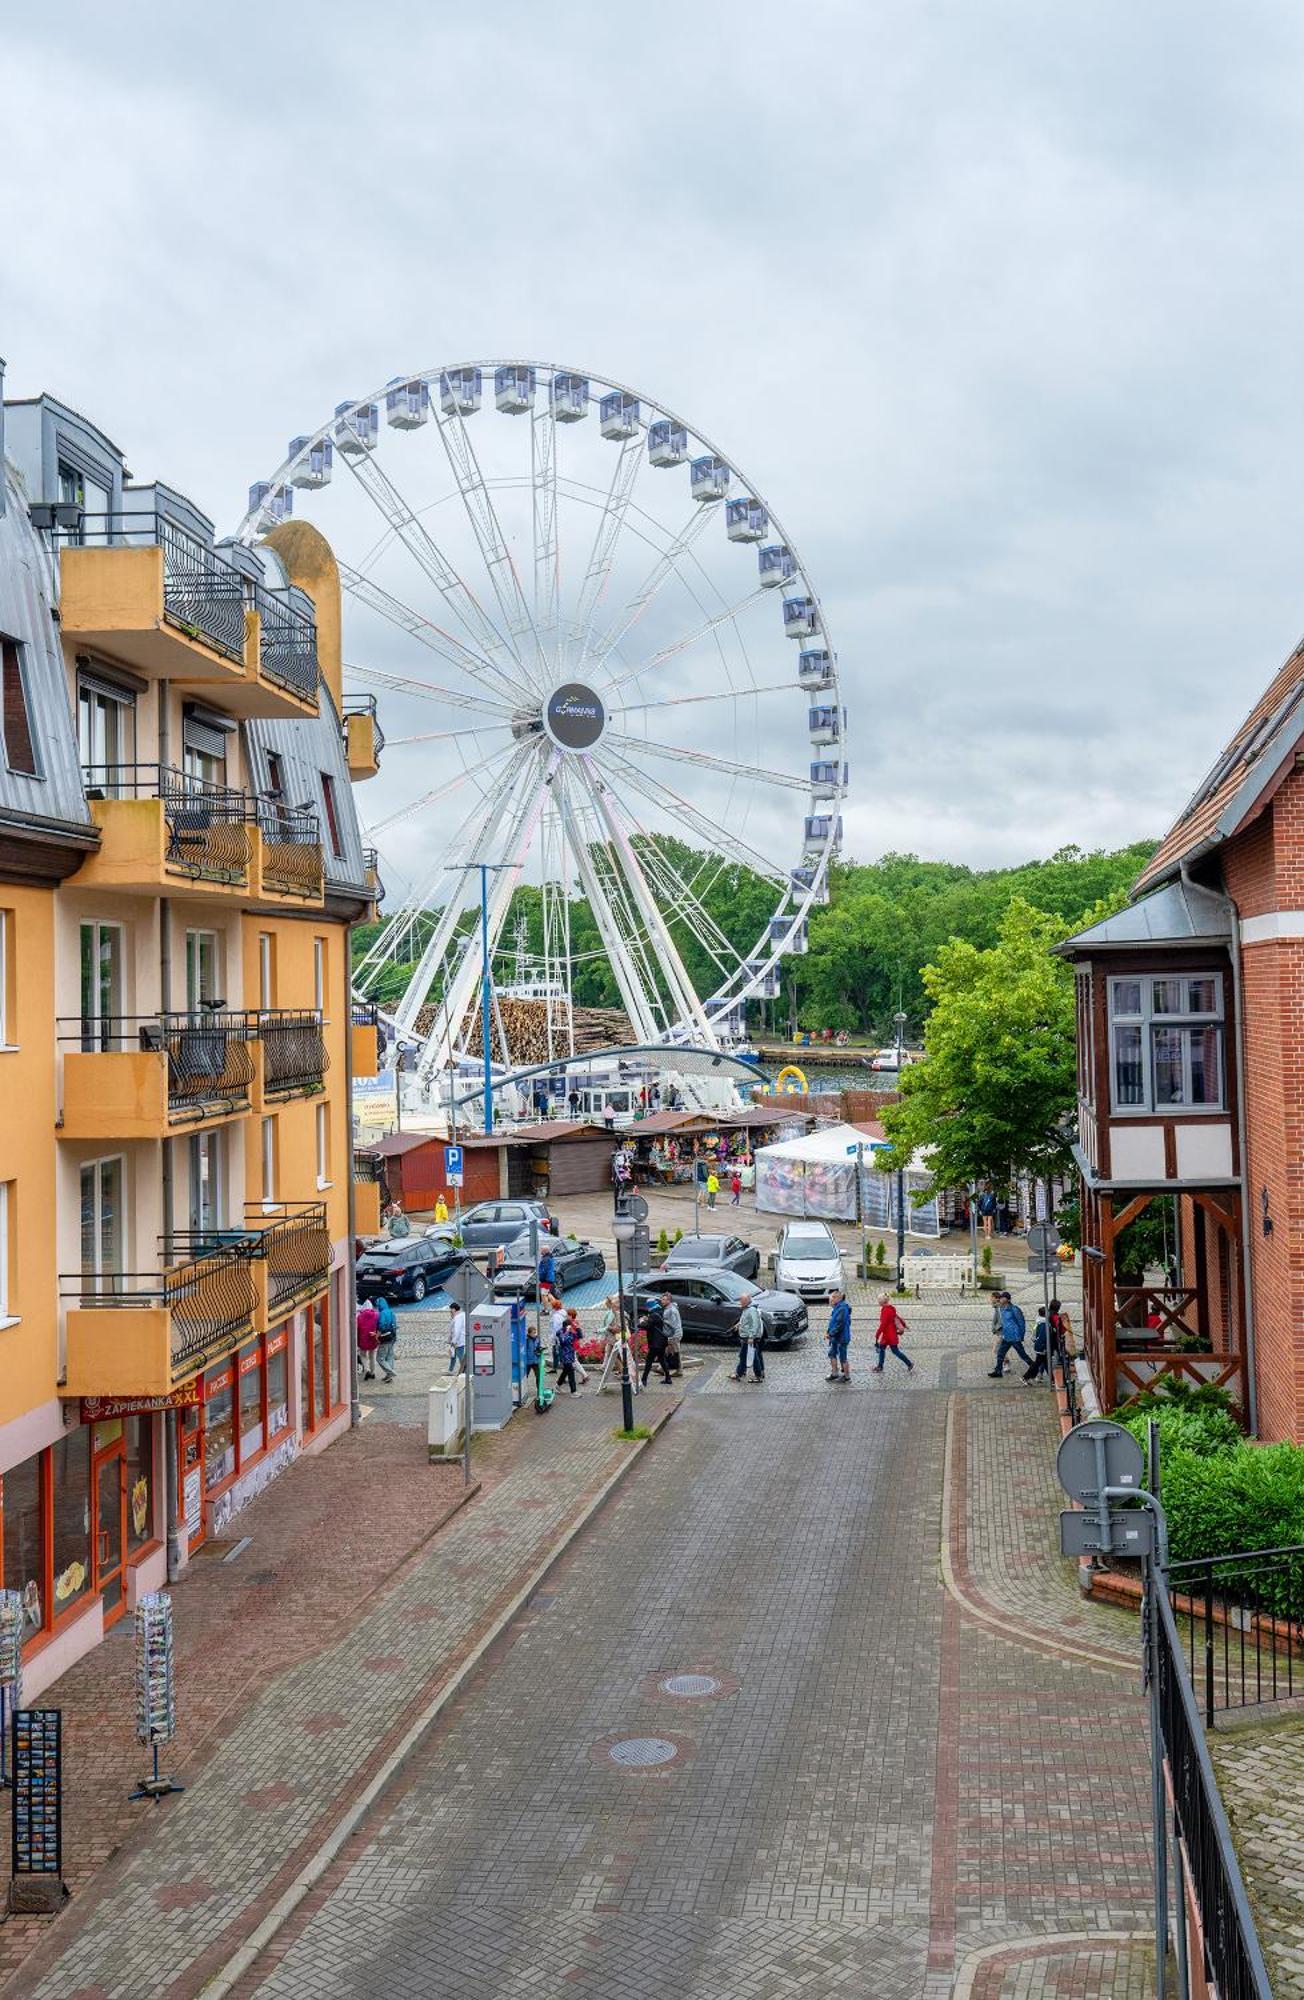
M 1114 978 L 1108 992 L 1114 1110 L 1222 1110 L 1222 976 Z

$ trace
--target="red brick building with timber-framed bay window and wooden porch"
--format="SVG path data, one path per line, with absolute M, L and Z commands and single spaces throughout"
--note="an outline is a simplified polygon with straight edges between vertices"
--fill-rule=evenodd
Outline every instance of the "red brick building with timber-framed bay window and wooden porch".
M 1104 1408 L 1156 1372 L 1224 1382 L 1304 1442 L 1304 646 L 1078 972 L 1084 1332 Z M 1174 1198 L 1164 1282 L 1126 1224 Z

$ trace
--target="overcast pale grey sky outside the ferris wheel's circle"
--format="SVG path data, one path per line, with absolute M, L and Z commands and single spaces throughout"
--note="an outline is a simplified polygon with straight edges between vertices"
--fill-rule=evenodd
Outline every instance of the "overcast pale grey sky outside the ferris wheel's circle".
M 10 394 L 230 528 L 392 374 L 644 386 L 802 548 L 858 858 L 1160 834 L 1304 624 L 1280 0 L 64 4 L 0 60 Z

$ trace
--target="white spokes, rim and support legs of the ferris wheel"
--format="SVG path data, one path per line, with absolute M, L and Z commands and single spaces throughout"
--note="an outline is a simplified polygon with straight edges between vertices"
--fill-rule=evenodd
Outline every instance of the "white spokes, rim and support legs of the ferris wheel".
M 492 498 L 494 492 L 504 486 L 524 488 L 526 480 L 524 476 L 514 480 L 486 480 L 480 472 L 480 462 L 468 434 L 466 414 L 456 408 L 452 412 L 446 410 L 440 398 L 442 384 L 472 370 L 480 372 L 480 382 L 488 398 L 494 392 L 494 378 L 502 368 L 530 370 L 534 394 L 538 396 L 538 402 L 532 398 L 528 410 L 514 412 L 528 416 L 530 422 L 528 484 L 534 558 L 530 594 L 526 594 L 526 588 L 522 586 L 522 578 L 498 524 L 498 512 Z M 586 384 L 586 414 L 596 416 L 600 400 L 612 394 L 626 396 L 636 404 L 634 430 L 628 438 L 618 442 L 618 454 L 606 498 L 598 500 L 600 518 L 594 530 L 578 608 L 570 620 L 570 640 L 566 640 L 564 634 L 558 602 L 558 490 L 562 490 L 568 498 L 584 498 L 588 504 L 594 504 L 592 494 L 598 490 L 588 482 L 568 480 L 558 474 L 558 418 L 552 394 L 552 384 L 558 376 L 572 376 Z M 406 390 L 414 384 L 426 386 L 426 414 L 420 422 L 432 422 L 438 430 L 440 444 L 454 478 L 456 496 L 462 500 L 484 574 L 488 576 L 492 610 L 480 602 L 480 598 L 448 562 L 434 540 L 424 514 L 418 514 L 408 506 L 388 470 L 380 466 L 376 456 L 378 420 L 372 422 L 370 418 L 364 418 L 360 422 L 358 418 L 358 412 L 374 410 L 378 414 L 384 408 L 390 390 L 400 386 Z M 486 406 L 486 414 L 494 414 L 492 406 Z M 774 980 L 780 962 L 794 950 L 794 940 L 804 936 L 810 908 L 826 900 L 828 870 L 840 844 L 840 810 L 846 796 L 844 720 L 840 722 L 836 742 L 830 746 L 830 760 L 834 762 L 836 778 L 832 780 L 832 786 L 828 782 L 824 784 L 820 800 L 810 796 L 808 804 L 808 816 L 816 820 L 826 818 L 828 832 L 820 840 L 806 838 L 802 844 L 800 866 L 804 874 L 808 874 L 806 882 L 796 880 L 796 862 L 784 872 L 772 860 L 758 854 L 740 834 L 708 818 L 698 806 L 672 790 L 672 786 L 660 780 L 660 776 L 652 776 L 644 766 L 650 758 L 684 762 L 688 766 L 696 766 L 698 770 L 714 770 L 732 776 L 734 784 L 746 776 L 752 782 L 776 784 L 802 792 L 810 792 L 808 778 L 770 772 L 760 766 L 744 766 L 732 758 L 722 758 L 706 750 L 688 750 L 678 744 L 650 742 L 644 736 L 628 734 L 626 728 L 610 726 L 610 722 L 626 722 L 634 712 L 656 706 L 678 706 L 694 700 L 746 700 L 754 694 L 778 692 L 780 686 L 792 686 L 794 692 L 806 692 L 794 674 L 790 682 L 774 682 L 766 688 L 758 688 L 756 684 L 750 688 L 726 686 L 712 694 L 672 696 L 666 704 L 630 700 L 616 702 L 612 706 L 612 698 L 616 698 L 622 688 L 634 684 L 634 692 L 640 694 L 642 688 L 638 684 L 658 664 L 686 646 L 708 638 L 714 630 L 730 622 L 734 624 L 742 656 L 748 660 L 746 640 L 738 630 L 738 616 L 762 592 L 762 586 L 756 584 L 736 604 L 724 604 L 720 610 L 708 610 L 700 626 L 674 644 L 660 648 L 660 652 L 636 666 L 622 666 L 612 660 L 620 642 L 638 622 L 642 612 L 654 602 L 660 590 L 670 582 L 670 578 L 678 578 L 686 584 L 690 596 L 696 598 L 696 588 L 688 582 L 686 568 L 682 568 L 682 564 L 686 564 L 694 540 L 704 532 L 708 516 L 724 514 L 722 496 L 716 500 L 700 500 L 692 496 L 692 512 L 688 514 L 688 520 L 668 546 L 660 548 L 660 554 L 656 554 L 656 560 L 652 562 L 634 598 L 616 610 L 614 616 L 610 608 L 604 608 L 606 582 L 612 572 L 622 530 L 630 524 L 630 514 L 642 514 L 642 518 L 656 530 L 656 534 L 644 534 L 634 524 L 636 532 L 644 542 L 648 542 L 650 548 L 656 550 L 658 538 L 664 540 L 666 536 L 662 522 L 654 522 L 642 508 L 634 506 L 638 472 L 648 460 L 646 432 L 660 420 L 666 420 L 674 428 L 682 430 L 686 440 L 690 440 L 690 446 L 684 452 L 684 470 L 686 462 L 692 458 L 716 458 L 728 468 L 730 478 L 738 480 L 738 488 L 732 498 L 756 500 L 764 508 L 766 538 L 784 546 L 790 558 L 790 572 L 782 578 L 780 588 L 766 590 L 764 594 L 776 598 L 776 610 L 782 606 L 784 598 L 796 594 L 808 598 L 814 606 L 814 630 L 818 644 L 828 650 L 830 660 L 828 680 L 820 684 L 818 698 L 822 704 L 832 706 L 838 718 L 844 718 L 846 710 L 842 708 L 840 698 L 838 654 L 828 632 L 824 608 L 800 552 L 786 534 L 782 522 L 764 500 L 760 488 L 750 482 L 742 468 L 696 424 L 680 418 L 662 402 L 642 396 L 628 384 L 612 382 L 608 376 L 598 376 L 592 374 L 592 370 L 562 362 L 524 362 L 518 358 L 444 362 L 436 368 L 418 370 L 412 376 L 396 376 L 372 394 L 358 396 L 354 402 L 342 404 L 326 424 L 294 440 L 296 450 L 282 460 L 280 468 L 268 482 L 270 494 L 288 494 L 294 486 L 294 474 L 310 462 L 314 448 L 320 448 L 326 442 L 334 448 L 338 446 L 342 432 L 352 434 L 350 450 L 336 450 L 336 456 L 348 472 L 354 474 L 386 524 L 380 542 L 364 560 L 376 560 L 380 552 L 392 546 L 394 540 L 402 542 L 424 572 L 426 580 L 434 584 L 440 598 L 438 618 L 446 622 L 436 622 L 436 616 L 428 618 L 424 612 L 412 610 L 400 598 L 394 598 L 380 584 L 372 582 L 364 570 L 356 570 L 340 562 L 340 580 L 344 590 L 368 604 L 400 630 L 406 630 L 424 650 L 434 652 L 442 660 L 444 668 L 454 668 L 462 674 L 468 686 L 436 686 L 428 680 L 410 680 L 408 676 L 384 670 L 358 668 L 354 672 L 364 674 L 364 678 L 374 684 L 436 696 L 448 708 L 470 710 L 490 718 L 478 726 L 472 722 L 466 730 L 454 728 L 432 732 L 442 740 L 458 734 L 480 736 L 490 730 L 508 732 L 508 742 L 502 750 L 494 752 L 478 766 L 468 766 L 466 758 L 462 758 L 464 768 L 460 772 L 454 772 L 452 778 L 422 798 L 400 806 L 384 822 L 380 822 L 380 826 L 370 830 L 374 836 L 378 830 L 384 830 L 402 818 L 408 818 L 432 804 L 442 804 L 462 786 L 470 786 L 478 794 L 476 804 L 460 826 L 456 826 L 448 838 L 442 838 L 438 866 L 434 866 L 424 880 L 412 884 L 402 908 L 386 920 L 370 952 L 354 968 L 356 986 L 366 992 L 368 978 L 374 978 L 376 968 L 386 962 L 390 948 L 400 942 L 404 934 L 410 938 L 418 936 L 420 916 L 428 910 L 430 900 L 442 892 L 438 920 L 424 942 L 408 988 L 392 1014 L 386 1016 L 396 1034 L 394 1048 L 402 1044 L 422 1044 L 418 1076 L 426 1084 L 430 1084 L 438 1070 L 452 1068 L 456 1060 L 464 1060 L 466 1052 L 462 1048 L 460 1034 L 462 1024 L 470 1016 L 480 980 L 480 936 L 478 926 L 468 928 L 464 922 L 466 910 L 458 894 L 460 878 L 466 868 L 474 868 L 480 860 L 492 860 L 496 864 L 496 872 L 490 882 L 490 954 L 494 954 L 508 906 L 512 902 L 512 892 L 524 876 L 526 858 L 534 838 L 540 834 L 540 826 L 544 836 L 544 966 L 548 972 L 550 964 L 558 964 L 566 974 L 566 990 L 558 1004 L 556 1020 L 554 1006 L 552 1002 L 548 1004 L 550 1054 L 554 1052 L 554 1038 L 558 1044 L 556 1054 L 574 1054 L 570 1022 L 570 972 L 574 960 L 570 958 L 570 876 L 564 868 L 566 852 L 570 852 L 572 872 L 578 876 L 580 888 L 584 890 L 594 914 L 602 940 L 602 956 L 608 958 L 616 976 L 616 984 L 634 1028 L 634 1040 L 648 1046 L 688 1044 L 698 1048 L 718 1048 L 720 1028 L 730 1016 L 738 1018 L 742 1004 L 756 998 Z M 366 442 L 368 432 L 374 432 L 370 442 Z M 454 494 L 448 494 L 446 498 L 452 500 Z M 268 530 L 270 518 L 276 516 L 270 516 L 266 500 L 250 506 L 240 528 L 236 530 L 238 538 L 244 542 L 256 542 Z M 748 552 L 756 544 L 742 542 L 740 546 Z M 718 584 L 714 584 L 714 580 L 712 588 L 718 592 Z M 696 600 L 700 602 L 700 598 Z M 702 608 L 706 610 L 706 606 Z M 562 660 L 564 644 L 572 648 L 566 662 Z M 614 674 L 608 664 L 616 668 Z M 520 724 L 522 718 L 522 688 L 526 702 L 546 702 L 548 690 L 556 688 L 562 672 L 566 672 L 568 680 L 578 682 L 586 676 L 600 676 L 604 668 L 608 670 L 606 680 L 594 680 L 594 688 L 608 710 L 608 728 L 600 742 L 600 760 L 588 752 L 564 754 L 554 742 L 550 742 L 546 728 L 542 734 L 522 734 L 520 728 L 514 728 L 514 724 Z M 814 698 L 814 694 L 810 698 Z M 620 796 L 612 792 L 608 782 L 610 778 L 618 778 Z M 680 826 L 704 840 L 712 854 L 722 854 L 724 858 L 740 862 L 748 870 L 776 882 L 776 906 L 770 912 L 770 920 L 766 922 L 762 936 L 750 952 L 738 952 L 738 948 L 724 938 L 720 926 L 710 918 L 694 894 L 694 884 L 702 876 L 700 870 L 694 874 L 694 884 L 688 884 L 670 858 L 654 846 L 644 846 L 640 860 L 632 842 L 634 836 L 644 834 L 646 830 L 634 818 L 634 806 L 630 804 L 632 796 L 640 802 L 646 800 L 658 812 L 670 812 Z M 552 874 L 548 870 L 550 848 Z M 720 866 L 724 866 L 724 860 L 720 860 Z M 700 998 L 696 994 L 680 952 L 670 936 L 666 916 L 690 920 L 696 928 L 698 940 L 706 946 L 708 956 L 720 970 L 720 984 L 708 998 Z M 772 926 L 776 918 L 788 920 L 782 926 L 782 936 L 774 934 Z M 732 968 L 728 960 L 734 960 Z M 660 972 L 660 982 L 654 966 L 656 972 Z M 430 998 L 440 970 L 444 972 L 444 984 L 436 1010 L 436 1022 L 426 1034 L 418 1034 L 418 1014 Z

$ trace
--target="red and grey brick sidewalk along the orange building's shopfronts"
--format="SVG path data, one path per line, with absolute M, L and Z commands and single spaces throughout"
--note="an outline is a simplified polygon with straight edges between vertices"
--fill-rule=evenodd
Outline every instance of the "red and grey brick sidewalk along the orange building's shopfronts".
M 640 1418 L 664 1420 L 678 1400 L 648 1396 Z M 304 1842 L 320 1842 L 636 1456 L 612 1438 L 614 1422 L 612 1398 L 590 1392 L 478 1438 L 482 1490 L 452 1520 L 462 1474 L 426 1464 L 424 1428 L 364 1424 L 286 1472 L 236 1524 L 252 1546 L 230 1564 L 204 1558 L 176 1588 L 186 1734 L 166 1768 L 186 1778 L 182 1796 L 122 1804 L 144 1758 L 130 1738 L 130 1628 L 64 1676 L 52 1700 L 70 1726 L 66 1854 L 78 1894 L 56 1926 L 0 1928 L 4 1992 L 100 2000 L 178 1980 L 198 1990 L 204 1954 L 274 1900 Z

